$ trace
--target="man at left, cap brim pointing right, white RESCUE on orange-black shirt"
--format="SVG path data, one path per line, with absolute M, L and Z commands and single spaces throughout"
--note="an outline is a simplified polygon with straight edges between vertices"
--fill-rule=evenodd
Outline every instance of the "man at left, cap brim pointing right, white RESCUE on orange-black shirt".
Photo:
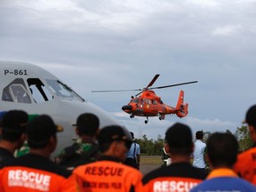
M 76 191 L 71 172 L 50 160 L 60 126 L 50 116 L 37 116 L 27 126 L 29 153 L 13 158 L 0 170 L 0 191 Z

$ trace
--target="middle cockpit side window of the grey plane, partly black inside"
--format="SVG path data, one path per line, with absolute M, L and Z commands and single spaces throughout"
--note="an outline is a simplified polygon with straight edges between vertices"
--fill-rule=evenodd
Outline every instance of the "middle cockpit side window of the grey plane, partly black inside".
M 28 78 L 29 92 L 36 103 L 52 100 L 51 92 L 44 86 L 38 78 Z

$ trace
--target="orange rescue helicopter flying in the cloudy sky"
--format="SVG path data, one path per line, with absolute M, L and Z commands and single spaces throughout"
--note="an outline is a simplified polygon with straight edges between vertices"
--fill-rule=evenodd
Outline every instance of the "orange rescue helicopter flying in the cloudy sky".
M 180 96 L 176 105 L 176 108 L 164 104 L 161 97 L 158 97 L 154 89 L 163 89 L 167 87 L 180 86 L 183 84 L 195 84 L 197 81 L 186 82 L 182 84 L 170 84 L 165 86 L 151 87 L 156 79 L 160 76 L 156 76 L 151 80 L 147 87 L 134 90 L 116 90 L 116 91 L 92 91 L 92 92 L 127 92 L 138 91 L 135 96 L 132 96 L 132 100 L 127 105 L 124 105 L 122 109 L 124 112 L 130 114 L 130 117 L 134 116 L 146 116 L 145 124 L 148 124 L 148 116 L 159 116 L 159 120 L 164 120 L 165 115 L 176 114 L 176 116 L 184 117 L 188 115 L 188 103 L 184 103 L 184 92 L 180 91 Z

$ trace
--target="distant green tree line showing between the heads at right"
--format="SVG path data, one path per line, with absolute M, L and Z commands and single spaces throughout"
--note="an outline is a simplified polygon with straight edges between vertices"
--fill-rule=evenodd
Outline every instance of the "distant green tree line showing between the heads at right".
M 237 127 L 236 132 L 234 133 L 230 132 L 229 130 L 226 130 L 226 132 L 236 136 L 241 152 L 252 147 L 252 140 L 250 138 L 247 126 L 242 125 L 242 127 Z M 206 141 L 211 134 L 212 132 L 204 132 L 204 140 Z M 161 135 L 158 135 L 156 140 L 148 140 L 146 134 L 144 134 L 141 139 L 135 139 L 134 141 L 140 144 L 141 155 L 163 155 L 164 139 L 162 139 Z

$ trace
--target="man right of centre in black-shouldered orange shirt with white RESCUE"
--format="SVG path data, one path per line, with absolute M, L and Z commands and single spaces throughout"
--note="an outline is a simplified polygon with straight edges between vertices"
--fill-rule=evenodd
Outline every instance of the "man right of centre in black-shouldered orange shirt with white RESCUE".
M 193 167 L 190 155 L 194 142 L 192 132 L 186 124 L 173 124 L 165 132 L 165 151 L 172 158 L 170 165 L 148 172 L 143 177 L 140 191 L 179 191 L 187 192 L 204 180 L 207 172 Z

